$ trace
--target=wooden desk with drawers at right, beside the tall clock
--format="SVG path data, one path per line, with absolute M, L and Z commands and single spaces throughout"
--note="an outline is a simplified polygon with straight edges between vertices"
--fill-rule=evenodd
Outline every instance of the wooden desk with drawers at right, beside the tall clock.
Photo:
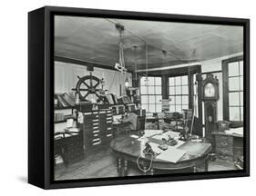
M 243 156 L 243 136 L 227 134 L 225 132 L 212 132 L 215 139 L 215 152 L 222 160 L 234 162 Z

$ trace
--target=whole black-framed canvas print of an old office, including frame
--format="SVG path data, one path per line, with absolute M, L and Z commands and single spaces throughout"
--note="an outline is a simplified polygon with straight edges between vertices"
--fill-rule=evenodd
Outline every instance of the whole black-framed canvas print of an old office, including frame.
M 28 14 L 28 181 L 249 176 L 249 19 L 46 6 Z

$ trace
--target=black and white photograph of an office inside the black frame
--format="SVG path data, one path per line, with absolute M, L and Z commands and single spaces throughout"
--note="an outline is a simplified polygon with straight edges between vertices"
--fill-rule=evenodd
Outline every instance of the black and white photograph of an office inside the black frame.
M 242 25 L 54 17 L 54 180 L 241 171 Z

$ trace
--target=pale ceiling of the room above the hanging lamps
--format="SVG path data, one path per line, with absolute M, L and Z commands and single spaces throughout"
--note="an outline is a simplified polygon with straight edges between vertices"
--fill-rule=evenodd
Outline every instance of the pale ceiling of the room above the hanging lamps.
M 146 40 L 148 68 L 210 60 L 243 50 L 241 26 L 109 20 Z M 135 70 L 136 63 L 137 69 L 145 69 L 145 44 L 128 31 L 124 32 L 126 66 Z M 105 18 L 55 18 L 56 56 L 114 67 L 118 62 L 118 42 L 118 30 Z

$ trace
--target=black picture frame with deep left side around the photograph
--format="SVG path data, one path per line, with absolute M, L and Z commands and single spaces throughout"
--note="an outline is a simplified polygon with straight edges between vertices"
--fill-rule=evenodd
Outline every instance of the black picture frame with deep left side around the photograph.
M 244 29 L 244 169 L 173 175 L 53 181 L 54 15 L 126 18 L 212 25 L 242 25 Z M 169 15 L 114 10 L 45 6 L 28 14 L 28 182 L 43 189 L 188 181 L 250 175 L 250 20 L 196 15 Z

